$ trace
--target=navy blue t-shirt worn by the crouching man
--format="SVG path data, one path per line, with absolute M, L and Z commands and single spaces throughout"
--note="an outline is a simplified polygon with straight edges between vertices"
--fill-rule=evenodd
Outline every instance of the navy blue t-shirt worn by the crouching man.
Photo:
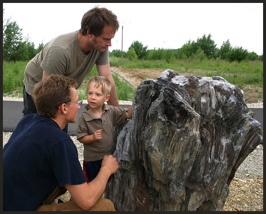
M 3 147 L 3 211 L 35 211 L 56 186 L 86 182 L 77 148 L 50 118 L 23 117 Z

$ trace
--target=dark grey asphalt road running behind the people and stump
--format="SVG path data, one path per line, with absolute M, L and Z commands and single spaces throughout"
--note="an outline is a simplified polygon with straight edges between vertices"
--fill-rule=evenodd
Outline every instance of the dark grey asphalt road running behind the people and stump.
M 82 104 L 81 108 L 77 113 L 77 120 L 75 123 L 68 124 L 68 134 L 75 136 L 78 119 L 80 118 L 81 112 L 84 110 Z M 130 105 L 120 105 L 121 108 L 129 108 Z M 4 101 L 3 100 L 3 132 L 13 132 L 16 128 L 16 125 L 23 117 L 23 102 L 21 101 Z M 263 130 L 263 108 L 250 108 L 255 112 L 254 119 L 261 123 L 261 128 Z

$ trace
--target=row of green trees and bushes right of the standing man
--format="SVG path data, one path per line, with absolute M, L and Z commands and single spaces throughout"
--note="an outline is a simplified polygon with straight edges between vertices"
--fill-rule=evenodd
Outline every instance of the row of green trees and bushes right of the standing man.
M 221 59 L 229 62 L 241 62 L 242 60 L 254 61 L 262 60 L 263 55 L 258 57 L 255 52 L 248 52 L 243 47 L 233 47 L 229 39 L 223 42 L 220 48 L 216 47 L 215 41 L 211 39 L 211 34 L 202 38 L 197 38 L 197 41 L 189 40 L 178 49 L 151 49 L 147 50 L 147 46 L 143 46 L 138 40 L 134 41 L 128 48 L 128 52 L 123 51 L 123 57 L 129 60 L 165 60 L 172 62 L 176 59 Z M 121 57 L 120 50 L 113 50 L 110 56 Z

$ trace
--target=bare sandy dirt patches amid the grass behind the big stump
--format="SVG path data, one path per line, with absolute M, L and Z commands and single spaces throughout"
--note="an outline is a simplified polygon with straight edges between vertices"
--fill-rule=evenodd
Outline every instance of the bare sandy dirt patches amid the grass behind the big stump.
M 111 71 L 116 72 L 121 77 L 125 78 L 130 84 L 137 87 L 143 80 L 146 79 L 156 79 L 165 70 L 160 69 L 138 69 L 138 68 L 122 68 L 122 67 L 110 67 Z M 179 75 L 189 76 L 197 75 L 204 76 L 205 71 L 177 71 Z M 263 101 L 263 88 L 253 85 L 246 85 L 243 89 L 245 93 L 246 103 L 256 103 L 258 101 Z

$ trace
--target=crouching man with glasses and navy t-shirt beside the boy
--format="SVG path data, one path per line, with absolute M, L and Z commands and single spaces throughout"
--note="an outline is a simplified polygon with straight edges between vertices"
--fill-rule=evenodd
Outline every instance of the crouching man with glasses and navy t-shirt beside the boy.
M 87 183 L 77 148 L 66 132 L 82 104 L 71 78 L 49 75 L 34 86 L 38 114 L 24 116 L 3 147 L 3 211 L 115 211 L 101 198 L 119 168 L 105 156 L 97 177 Z M 66 191 L 75 202 L 51 203 Z

